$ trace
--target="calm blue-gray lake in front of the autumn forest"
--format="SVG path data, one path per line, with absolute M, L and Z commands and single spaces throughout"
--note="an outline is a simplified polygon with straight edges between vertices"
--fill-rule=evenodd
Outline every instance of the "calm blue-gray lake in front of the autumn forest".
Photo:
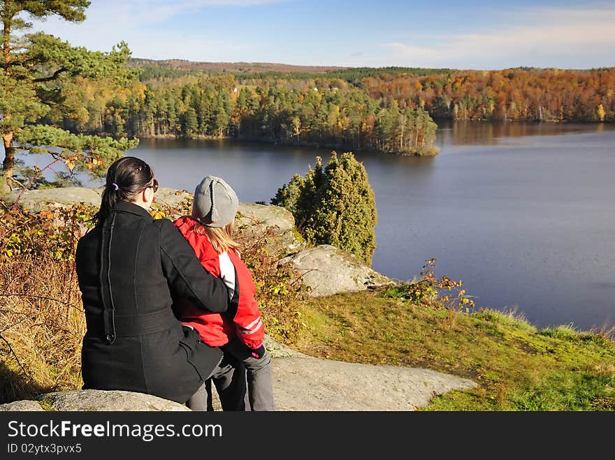
M 358 152 L 375 192 L 372 267 L 412 279 L 428 258 L 477 306 L 544 327 L 615 324 L 615 126 L 439 121 L 435 157 Z M 141 140 L 161 186 L 223 177 L 269 202 L 330 149 Z

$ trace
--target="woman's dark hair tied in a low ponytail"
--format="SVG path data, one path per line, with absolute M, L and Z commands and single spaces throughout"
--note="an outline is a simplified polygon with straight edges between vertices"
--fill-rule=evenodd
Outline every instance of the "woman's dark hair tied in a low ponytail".
M 152 179 L 152 168 L 140 158 L 124 156 L 116 160 L 107 170 L 101 209 L 94 215 L 96 225 L 105 221 L 118 201 L 133 202 L 136 193 L 147 187 Z

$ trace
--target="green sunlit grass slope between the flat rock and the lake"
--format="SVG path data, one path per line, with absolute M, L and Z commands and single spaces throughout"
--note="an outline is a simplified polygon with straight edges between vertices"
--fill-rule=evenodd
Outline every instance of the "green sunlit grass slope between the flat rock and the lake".
M 615 410 L 608 332 L 539 330 L 514 313 L 459 313 L 380 291 L 307 300 L 301 319 L 295 347 L 308 355 L 423 367 L 479 384 L 435 396 L 422 410 Z

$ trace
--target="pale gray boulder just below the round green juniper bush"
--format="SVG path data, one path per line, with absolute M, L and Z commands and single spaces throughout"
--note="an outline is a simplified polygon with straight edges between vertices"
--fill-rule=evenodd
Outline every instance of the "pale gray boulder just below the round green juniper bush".
M 365 265 L 356 255 L 328 244 L 305 249 L 281 260 L 287 261 L 292 262 L 301 273 L 305 285 L 312 288 L 312 297 L 394 283 L 392 279 Z

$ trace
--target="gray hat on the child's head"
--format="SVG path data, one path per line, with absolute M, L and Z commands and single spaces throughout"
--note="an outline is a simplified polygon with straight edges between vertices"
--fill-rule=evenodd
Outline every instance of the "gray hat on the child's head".
M 194 191 L 192 217 L 208 227 L 222 228 L 235 220 L 239 200 L 224 179 L 205 176 Z

